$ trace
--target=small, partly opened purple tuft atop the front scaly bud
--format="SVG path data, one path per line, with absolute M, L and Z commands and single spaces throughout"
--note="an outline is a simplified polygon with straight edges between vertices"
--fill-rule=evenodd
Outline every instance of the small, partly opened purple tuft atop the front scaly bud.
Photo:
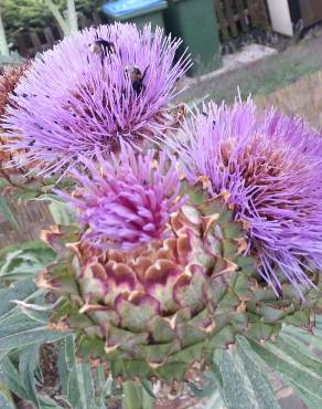
M 107 161 L 97 153 L 98 164 L 84 159 L 90 177 L 73 169 L 80 183 L 73 197 L 58 195 L 79 212 L 84 239 L 94 247 L 132 250 L 167 235 L 170 214 L 180 209 L 180 175 L 165 151 L 138 154 L 121 144 L 119 157 Z M 99 165 L 97 167 L 96 165 Z

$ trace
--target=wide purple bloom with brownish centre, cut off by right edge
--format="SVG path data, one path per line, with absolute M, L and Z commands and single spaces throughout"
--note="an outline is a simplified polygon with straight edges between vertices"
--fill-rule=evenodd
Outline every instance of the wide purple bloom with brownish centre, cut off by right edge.
M 211 103 L 184 125 L 186 139 L 169 139 L 189 180 L 211 181 L 211 195 L 229 193 L 236 219 L 249 226 L 248 253 L 278 294 L 286 279 L 313 285 L 322 268 L 322 144 L 300 118 L 251 101 Z M 310 274 L 309 274 L 310 275 Z

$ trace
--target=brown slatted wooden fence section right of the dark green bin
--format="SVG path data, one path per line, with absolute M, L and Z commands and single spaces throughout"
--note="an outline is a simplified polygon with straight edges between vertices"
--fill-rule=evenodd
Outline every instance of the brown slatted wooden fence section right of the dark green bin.
M 215 0 L 215 7 L 223 41 L 269 24 L 265 0 Z

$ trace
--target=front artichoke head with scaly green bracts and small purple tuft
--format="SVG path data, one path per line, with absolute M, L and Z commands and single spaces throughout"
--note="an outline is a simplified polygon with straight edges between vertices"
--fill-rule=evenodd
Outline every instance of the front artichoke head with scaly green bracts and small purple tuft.
M 260 259 L 246 255 L 249 224 L 236 220 L 227 191 L 210 197 L 210 180 L 189 183 L 170 156 L 157 157 L 165 160 L 158 167 L 155 155 L 124 149 L 106 165 L 114 172 L 100 159 L 98 167 L 87 161 L 90 176 L 74 174 L 82 187 L 69 202 L 82 230 L 43 232 L 61 260 L 37 284 L 62 295 L 52 325 L 77 333 L 80 355 L 107 361 L 114 377 L 181 381 L 237 334 L 266 340 L 294 316 L 310 324 L 318 291 L 303 285 L 300 294 L 281 279 L 281 295 L 275 294 L 258 272 Z M 137 245 L 126 242 L 124 229 Z

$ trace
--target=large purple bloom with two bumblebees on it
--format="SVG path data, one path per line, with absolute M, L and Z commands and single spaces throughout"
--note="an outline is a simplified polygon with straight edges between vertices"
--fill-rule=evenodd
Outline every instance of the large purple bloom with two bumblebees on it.
M 109 46 L 97 45 L 100 39 Z M 120 23 L 65 38 L 15 88 L 9 149 L 28 149 L 25 162 L 43 160 L 41 174 L 49 174 L 95 148 L 108 154 L 121 140 L 162 138 L 174 84 L 190 65 L 186 55 L 173 63 L 180 44 L 159 28 Z

